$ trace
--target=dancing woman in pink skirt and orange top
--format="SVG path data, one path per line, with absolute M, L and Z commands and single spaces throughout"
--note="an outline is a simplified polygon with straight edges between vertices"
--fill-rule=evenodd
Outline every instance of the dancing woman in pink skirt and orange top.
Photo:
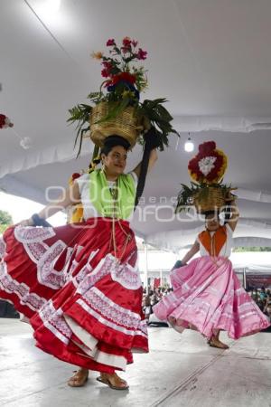
M 192 327 L 211 346 L 224 349 L 228 346 L 220 342 L 220 330 L 238 339 L 270 325 L 232 269 L 229 255 L 238 208 L 236 204 L 231 208 L 232 216 L 224 226 L 217 213 L 206 214 L 205 231 L 171 272 L 173 292 L 154 307 L 156 317 L 167 319 L 178 332 Z M 187 265 L 198 251 L 201 257 Z

